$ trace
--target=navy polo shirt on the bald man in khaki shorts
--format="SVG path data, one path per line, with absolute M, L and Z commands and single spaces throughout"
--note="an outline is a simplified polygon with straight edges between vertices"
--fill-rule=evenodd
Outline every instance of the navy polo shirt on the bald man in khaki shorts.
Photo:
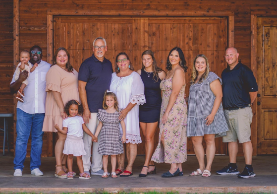
M 223 108 L 240 108 L 251 103 L 249 92 L 258 91 L 258 84 L 252 70 L 238 63 L 232 70 L 228 65 L 222 71 Z

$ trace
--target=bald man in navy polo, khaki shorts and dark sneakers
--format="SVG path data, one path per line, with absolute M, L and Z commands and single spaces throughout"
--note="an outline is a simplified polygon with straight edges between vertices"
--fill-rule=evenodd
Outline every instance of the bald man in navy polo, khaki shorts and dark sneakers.
M 252 168 L 253 147 L 250 140 L 250 124 L 253 116 L 251 104 L 257 97 L 258 85 L 252 70 L 238 62 L 238 56 L 234 47 L 225 51 L 228 67 L 222 71 L 222 105 L 229 130 L 223 137 L 223 142 L 228 142 L 230 163 L 217 171 L 217 174 L 238 174 L 238 178 L 250 178 L 256 176 Z M 244 171 L 240 174 L 236 165 L 237 139 L 242 143 L 246 163 Z

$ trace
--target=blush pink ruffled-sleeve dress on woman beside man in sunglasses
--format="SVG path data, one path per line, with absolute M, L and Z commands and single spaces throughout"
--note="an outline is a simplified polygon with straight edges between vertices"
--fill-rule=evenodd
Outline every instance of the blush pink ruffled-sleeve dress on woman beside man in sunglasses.
M 64 105 L 73 99 L 80 102 L 78 72 L 75 69 L 73 72 L 67 72 L 60 66 L 53 65 L 46 74 L 46 91 L 45 118 L 42 130 L 57 132 L 54 125 L 57 124 L 62 128 L 62 117 L 52 91 L 60 93 Z

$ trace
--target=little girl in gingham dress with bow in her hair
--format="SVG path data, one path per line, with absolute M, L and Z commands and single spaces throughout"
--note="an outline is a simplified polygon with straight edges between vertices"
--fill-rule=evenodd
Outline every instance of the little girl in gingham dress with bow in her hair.
M 111 155 L 111 178 L 117 178 L 115 173 L 116 155 L 124 153 L 123 144 L 126 141 L 126 129 L 124 121 L 118 119 L 120 112 L 118 108 L 116 95 L 107 90 L 104 95 L 103 109 L 98 110 L 97 118 L 99 125 L 95 136 L 98 136 L 101 130 L 100 144 L 98 153 L 103 155 L 104 173 L 102 178 L 108 178 L 108 157 Z M 122 127 L 122 137 L 120 134 L 119 123 Z

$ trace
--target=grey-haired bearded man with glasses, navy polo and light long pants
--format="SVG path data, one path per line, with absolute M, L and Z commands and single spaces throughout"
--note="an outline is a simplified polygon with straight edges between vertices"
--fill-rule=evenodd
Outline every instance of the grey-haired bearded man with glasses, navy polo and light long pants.
M 86 59 L 79 69 L 79 95 L 84 107 L 83 119 L 88 129 L 94 134 L 99 124 L 97 113 L 103 109 L 104 93 L 110 89 L 112 65 L 104 55 L 107 51 L 106 40 L 98 37 L 93 42 L 94 54 Z M 92 164 L 90 162 L 91 136 L 84 132 L 83 140 L 86 155 L 83 156 L 84 172 L 92 175 L 103 175 L 102 155 L 98 153 L 99 142 L 93 143 Z M 98 135 L 100 139 L 100 134 Z

